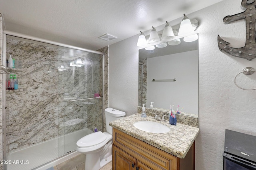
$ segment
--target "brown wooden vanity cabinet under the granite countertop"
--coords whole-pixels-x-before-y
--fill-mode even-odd
[[[181,159],[113,128],[113,170],[194,170],[194,143]]]

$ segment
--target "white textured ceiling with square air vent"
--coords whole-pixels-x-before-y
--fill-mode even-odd
[[[6,30],[97,50],[220,1],[0,0],[0,13]]]

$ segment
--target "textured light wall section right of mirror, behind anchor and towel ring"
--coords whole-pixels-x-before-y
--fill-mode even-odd
[[[196,169],[222,169],[225,129],[256,135],[255,92],[241,90],[233,80],[243,68],[256,69],[256,60],[248,61],[219,51],[218,34],[233,47],[243,47],[246,38],[245,21],[225,25],[225,16],[242,12],[241,0],[224,0],[216,5],[195,12],[200,27],[199,59],[199,125],[196,140]],[[255,50],[255,49],[253,49]],[[256,88],[256,75],[240,74],[241,86]]]

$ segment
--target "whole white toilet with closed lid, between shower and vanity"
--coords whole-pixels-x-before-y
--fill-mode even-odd
[[[124,116],[123,111],[105,109],[107,131],[91,133],[77,141],[76,150],[86,154],[84,170],[99,170],[112,161],[112,127],[109,123]]]

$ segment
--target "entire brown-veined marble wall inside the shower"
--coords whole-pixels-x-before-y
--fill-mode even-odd
[[[102,94],[102,64],[97,61],[102,55],[7,36],[6,57],[10,54],[22,61],[22,69],[10,70],[18,75],[21,91],[6,94],[8,152],[85,127],[102,129],[102,98],[68,101],[94,93],[90,64],[70,67],[78,57],[92,59],[93,87]]]

